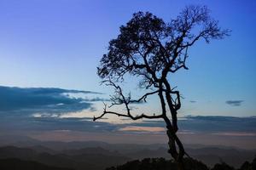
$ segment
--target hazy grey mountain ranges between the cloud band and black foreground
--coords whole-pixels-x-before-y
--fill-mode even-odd
[[[1,142],[0,140],[0,144]],[[142,160],[146,157],[171,158],[166,151],[166,144],[108,144],[102,141],[60,142],[24,138],[12,145],[29,149],[26,153],[26,160],[31,160],[29,156],[32,155],[32,160],[40,160],[40,162],[52,166],[58,166],[59,162],[64,160],[65,162],[61,164],[62,167],[69,167],[70,165],[71,167],[84,167],[85,164],[90,165],[90,161],[95,161],[97,165],[90,165],[90,167],[97,169],[104,167],[102,162],[105,161],[108,165],[118,165],[135,159]],[[244,161],[252,161],[256,155],[256,150],[242,150],[226,146],[185,144],[185,149],[189,156],[203,161],[209,167],[221,161],[227,162],[233,167],[240,167]],[[19,151],[14,152],[19,153]],[[22,155],[18,158],[22,158]],[[113,158],[113,160],[110,160],[110,158]],[[99,161],[101,159],[102,161]]]

